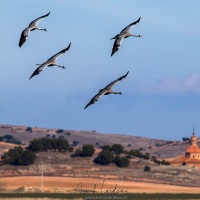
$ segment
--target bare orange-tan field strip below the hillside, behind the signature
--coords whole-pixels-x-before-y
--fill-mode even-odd
[[[8,177],[0,178],[6,190],[13,191],[20,187],[29,189],[41,189],[41,177]],[[82,184],[81,184],[82,183]],[[132,181],[103,180],[94,178],[64,178],[44,177],[43,191],[49,192],[73,192],[77,190],[94,190],[106,192],[120,190],[128,193],[199,193],[198,187],[183,187],[166,184],[141,183]]]

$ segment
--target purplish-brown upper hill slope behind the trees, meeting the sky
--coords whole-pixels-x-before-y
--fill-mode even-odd
[[[157,158],[173,158],[182,155],[188,143],[181,141],[169,141],[151,139],[138,136],[107,134],[93,131],[62,130],[38,127],[25,127],[0,124],[0,136],[11,135],[22,144],[28,145],[30,140],[40,137],[64,137],[72,146],[80,147],[83,144],[92,144],[96,148],[103,145],[121,144],[127,150],[140,149],[141,152],[149,152]],[[0,155],[6,148],[0,144]]]

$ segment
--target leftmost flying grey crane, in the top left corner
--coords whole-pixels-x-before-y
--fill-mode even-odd
[[[30,31],[34,31],[34,30],[43,30],[43,31],[46,31],[47,32],[47,29],[46,28],[39,28],[38,27],[38,22],[42,19],[44,19],[45,17],[49,16],[50,12],[46,15],[43,15],[35,20],[33,20],[27,28],[25,28],[22,33],[21,33],[21,37],[20,37],[20,40],[19,40],[19,47],[21,47],[25,42],[26,42],[26,39],[30,33]]]

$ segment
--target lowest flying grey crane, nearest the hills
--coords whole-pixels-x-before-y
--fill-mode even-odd
[[[115,92],[112,90],[112,87],[117,84],[118,82],[120,82],[121,80],[123,80],[124,78],[126,78],[126,76],[128,75],[129,71],[122,77],[118,78],[117,80],[111,82],[110,84],[108,84],[105,88],[99,90],[98,94],[96,94],[91,100],[90,102],[85,106],[84,109],[86,109],[88,106],[90,106],[91,104],[94,104],[96,101],[99,100],[100,97],[102,97],[103,95],[109,95],[109,94],[122,94],[121,92]]]

